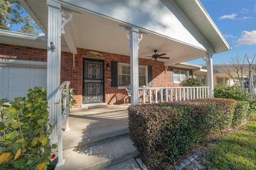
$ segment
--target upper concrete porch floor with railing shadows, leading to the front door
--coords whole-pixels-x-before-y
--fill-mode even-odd
[[[128,133],[128,107],[121,104],[97,109],[73,108],[69,115],[70,130],[62,132],[63,149]],[[62,128],[65,130],[66,121]]]

